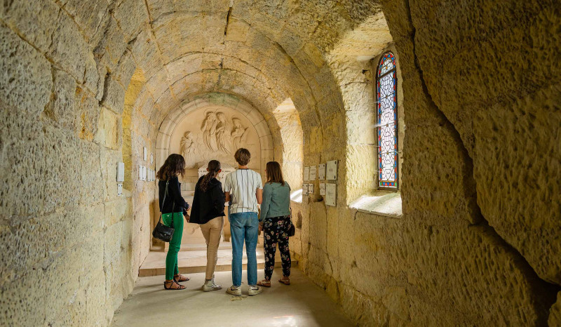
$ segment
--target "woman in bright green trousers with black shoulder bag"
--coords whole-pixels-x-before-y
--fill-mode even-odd
[[[180,251],[183,236],[183,216],[189,222],[187,209],[189,203],[181,196],[181,183],[179,175],[185,174],[185,159],[181,154],[170,154],[165,159],[163,166],[156,173],[158,178],[158,196],[162,221],[166,226],[173,226],[175,232],[170,241],[168,255],[165,257],[165,281],[163,288],[166,290],[183,290],[184,285],[179,282],[189,281],[189,278],[180,274],[177,266],[177,253]]]

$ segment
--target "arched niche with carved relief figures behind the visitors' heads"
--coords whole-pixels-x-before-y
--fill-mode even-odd
[[[211,93],[183,102],[163,119],[156,138],[156,167],[169,154],[184,154],[188,169],[182,191],[189,192],[194,190],[198,168],[209,160],[236,166],[238,147],[250,150],[248,166],[264,177],[266,162],[273,160],[273,137],[264,117],[234,95]]]

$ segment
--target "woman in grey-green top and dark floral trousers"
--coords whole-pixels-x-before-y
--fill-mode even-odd
[[[288,229],[290,229],[290,185],[283,178],[283,171],[276,161],[266,164],[267,181],[263,187],[263,202],[259,230],[264,231],[265,279],[257,285],[271,287],[271,276],[275,267],[275,251],[278,243],[280,259],[283,262],[283,277],[280,283],[290,285],[290,249]]]

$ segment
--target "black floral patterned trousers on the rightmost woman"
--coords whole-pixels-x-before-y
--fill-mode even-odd
[[[266,279],[270,280],[273,275],[277,243],[278,249],[280,250],[280,259],[283,261],[283,276],[290,276],[290,250],[288,249],[289,228],[290,215],[266,218],[263,223]]]

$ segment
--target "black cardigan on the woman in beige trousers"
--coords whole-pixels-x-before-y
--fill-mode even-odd
[[[195,196],[193,197],[193,208],[191,208],[191,223],[206,224],[213,218],[224,216],[224,203],[226,196],[222,191],[222,183],[216,178],[212,178],[208,183],[208,189],[203,192],[201,180],[198,179],[195,186]]]

